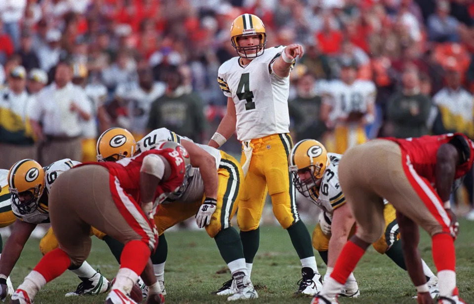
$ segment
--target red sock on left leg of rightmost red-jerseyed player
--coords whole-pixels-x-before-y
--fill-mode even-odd
[[[365,250],[354,242],[348,241],[337,258],[331,277],[338,283],[345,284],[351,272],[364,255]]]

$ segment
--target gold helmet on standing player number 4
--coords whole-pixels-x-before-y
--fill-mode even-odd
[[[258,45],[239,46],[237,38],[244,36],[260,36]],[[232,46],[237,51],[238,56],[243,58],[255,58],[263,54],[265,45],[267,44],[267,34],[265,34],[265,26],[259,17],[251,14],[243,14],[238,16],[231,26]]]

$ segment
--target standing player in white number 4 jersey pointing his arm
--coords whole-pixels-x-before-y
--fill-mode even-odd
[[[209,146],[219,148],[234,132],[242,142],[240,164],[245,174],[238,202],[237,223],[250,275],[260,242],[259,223],[267,191],[273,212],[288,231],[301,261],[303,278],[296,294],[314,295],[321,275],[311,247],[311,236],[295,204],[295,189],[288,173],[288,154],[293,145],[289,135],[289,74],[298,57],[299,44],[265,48],[267,34],[255,15],[238,16],[231,26],[231,43],[237,57],[224,62],[217,81],[227,97],[227,113]],[[226,294],[229,282],[217,291]]]

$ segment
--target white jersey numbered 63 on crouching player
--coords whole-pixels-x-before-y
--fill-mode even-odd
[[[312,199],[316,205],[325,212],[332,214],[333,210],[346,203],[344,193],[339,185],[339,175],[337,169],[342,155],[337,153],[327,153],[329,165],[324,170],[324,175],[319,186],[319,190],[310,190]]]

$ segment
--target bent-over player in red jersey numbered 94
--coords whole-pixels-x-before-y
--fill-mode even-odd
[[[80,265],[90,252],[91,226],[125,244],[105,303],[136,303],[130,292],[158,242],[153,221],[156,202],[182,185],[188,165],[189,154],[178,145],[117,162],[80,164],[60,175],[49,196],[51,225],[60,248],[41,259],[10,303],[31,304],[47,282],[71,265]],[[150,303],[163,301],[159,294],[159,299]]]

